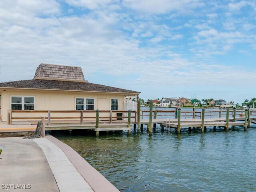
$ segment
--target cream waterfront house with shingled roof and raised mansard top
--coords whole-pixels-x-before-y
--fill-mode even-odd
[[[140,92],[89,83],[81,67],[40,64],[31,80],[0,83],[1,120],[8,110],[124,110]],[[64,115],[64,114],[63,114]]]

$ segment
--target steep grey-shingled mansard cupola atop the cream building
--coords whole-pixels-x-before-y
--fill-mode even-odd
[[[81,67],[44,63],[37,67],[34,79],[86,82]]]

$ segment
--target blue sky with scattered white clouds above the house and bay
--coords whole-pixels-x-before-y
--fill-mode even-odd
[[[143,99],[256,97],[255,0],[2,0],[0,82],[40,63]]]

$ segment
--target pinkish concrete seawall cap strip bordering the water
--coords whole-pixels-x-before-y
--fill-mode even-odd
[[[53,136],[45,136],[50,142],[58,146],[78,170],[81,176],[91,186],[95,192],[119,192],[100,172],[93,168],[84,158],[67,144],[64,144]]]

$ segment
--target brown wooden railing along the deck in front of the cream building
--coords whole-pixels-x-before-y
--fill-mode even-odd
[[[12,124],[12,120],[41,120],[42,116],[47,120],[47,124],[51,124],[51,120],[76,120],[80,119],[80,124],[85,120],[96,120],[97,110],[9,110],[8,123]],[[124,110],[99,110],[99,119],[112,122],[112,120],[124,120],[129,118],[129,111]],[[122,113],[122,116],[117,116]],[[127,113],[127,116],[124,114]],[[136,121],[136,111],[130,111],[132,114],[130,118]],[[26,114],[24,116],[14,116],[14,114]],[[28,114],[31,114],[30,116]],[[32,114],[38,114],[33,116]],[[54,114],[54,115],[53,115]],[[64,114],[68,114],[64,115]],[[74,115],[72,115],[74,114]],[[40,117],[39,117],[40,115]]]

